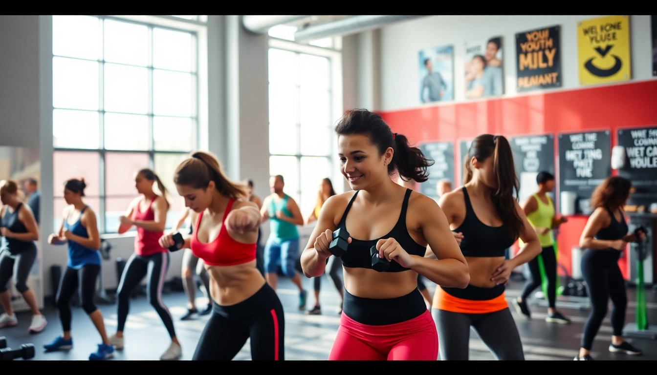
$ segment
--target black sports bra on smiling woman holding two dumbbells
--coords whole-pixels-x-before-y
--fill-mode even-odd
[[[344,267],[372,269],[370,248],[376,245],[378,240],[384,240],[391,237],[397,240],[399,245],[401,245],[401,247],[406,250],[408,254],[419,255],[422,257],[424,256],[424,253],[426,252],[426,246],[420,246],[417,244],[417,242],[413,240],[408,232],[408,229],[406,228],[406,211],[409,206],[409,197],[411,196],[412,191],[413,190],[411,189],[406,189],[406,195],[404,196],[403,204],[401,204],[401,213],[399,214],[399,219],[397,219],[397,223],[393,227],[392,231],[390,231],[385,236],[382,236],[381,238],[376,238],[376,240],[357,240],[351,237],[351,244],[347,246],[347,253],[342,255],[342,265],[344,265]],[[340,224],[338,224],[338,228],[345,229],[347,232],[349,232],[349,230],[345,227],[347,213],[349,213],[351,204],[353,204],[353,200],[355,200],[357,195],[358,190],[356,190],[355,194],[353,194],[351,197],[346,210],[344,210],[344,213],[342,214]],[[363,219],[371,220],[369,217]],[[390,261],[390,267],[388,267],[388,269],[384,272],[402,271],[409,271],[409,268],[401,267],[401,265],[399,265],[399,263],[396,261]]]

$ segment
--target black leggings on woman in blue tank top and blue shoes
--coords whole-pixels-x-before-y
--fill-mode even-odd
[[[78,292],[80,278],[78,273],[82,279],[82,309],[87,314],[97,310],[93,298],[96,295],[96,281],[101,273],[101,266],[89,264],[79,270],[66,267],[57,292],[57,309],[59,309],[59,319],[62,321],[64,332],[71,330],[71,297]]]

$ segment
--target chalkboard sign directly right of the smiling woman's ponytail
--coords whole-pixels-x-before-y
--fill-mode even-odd
[[[434,165],[428,168],[429,179],[420,184],[420,192],[438,200],[438,181],[448,179],[454,186],[454,143],[424,143],[420,144],[420,150],[424,156],[434,160]]]

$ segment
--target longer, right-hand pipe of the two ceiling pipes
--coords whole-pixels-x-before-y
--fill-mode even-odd
[[[303,30],[298,30],[294,33],[294,41],[307,42],[325,37],[336,37],[340,35],[351,35],[354,33],[365,32],[381,28],[395,22],[406,20],[413,20],[424,16],[353,16],[328,22],[326,24],[319,24],[317,26],[309,26]]]

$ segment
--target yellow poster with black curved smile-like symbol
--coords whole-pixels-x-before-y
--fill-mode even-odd
[[[578,23],[579,84],[630,79],[629,16],[606,16]]]

